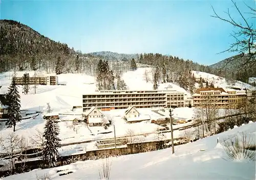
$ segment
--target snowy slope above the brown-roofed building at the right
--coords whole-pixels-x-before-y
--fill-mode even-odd
[[[192,74],[194,74],[196,79],[204,79],[205,81],[208,81],[208,83],[214,83],[215,87],[219,88],[240,88],[240,89],[250,89],[250,90],[256,90],[256,87],[253,87],[249,84],[243,83],[241,81],[230,81],[226,80],[223,77],[220,77],[218,75],[209,74],[206,72],[200,72],[200,71],[192,71]]]

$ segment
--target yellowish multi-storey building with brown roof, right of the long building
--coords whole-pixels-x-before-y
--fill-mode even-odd
[[[237,108],[247,99],[245,90],[224,88],[199,88],[193,94],[194,107]]]

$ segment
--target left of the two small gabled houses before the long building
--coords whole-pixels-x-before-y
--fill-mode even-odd
[[[89,126],[102,126],[110,124],[109,120],[106,119],[105,115],[100,112],[96,107],[92,107],[87,112],[82,114],[84,120]]]

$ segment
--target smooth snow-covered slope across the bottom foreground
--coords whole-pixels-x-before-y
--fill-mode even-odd
[[[139,153],[135,155],[111,158],[111,180],[130,179],[232,179],[249,180],[255,178],[255,162],[227,160],[227,155],[220,142],[223,138],[236,136],[238,132],[253,134],[255,122],[233,128],[230,131],[210,136],[193,143],[175,146],[172,149]],[[57,179],[98,179],[99,170],[105,160],[81,161],[70,165],[35,169],[33,171],[4,177],[4,180],[34,180],[36,176],[49,174],[52,180]],[[63,170],[61,172],[57,172]],[[59,176],[60,173],[73,173]]]

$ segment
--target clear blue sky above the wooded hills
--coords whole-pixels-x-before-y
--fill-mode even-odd
[[[0,0],[1,2],[1,0]],[[242,12],[253,0],[236,1]],[[231,1],[10,1],[1,19],[20,21],[40,34],[83,53],[161,53],[210,65],[234,54],[217,55],[234,39],[233,26],[210,17],[224,15]],[[248,14],[246,14],[248,16]]]

